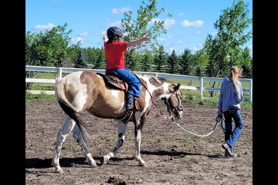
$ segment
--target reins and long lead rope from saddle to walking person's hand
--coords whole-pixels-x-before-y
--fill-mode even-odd
[[[133,73],[133,71],[131,71],[131,70],[128,69],[127,67],[125,67],[125,69],[129,70],[133,75],[135,75],[135,76],[138,78],[138,80],[140,81],[140,83],[141,83],[141,84],[146,88],[146,90],[149,92],[149,90],[148,90],[147,86],[144,84],[144,82],[142,82],[142,80],[141,80],[135,73]],[[172,93],[172,95],[173,95],[175,92],[176,92],[176,90]],[[152,97],[152,95],[151,95],[151,92],[149,92],[149,94],[150,94],[151,99],[153,100],[154,104],[155,104],[156,107],[158,108],[158,105],[156,104],[156,101],[154,101],[154,99],[153,99],[153,97]],[[172,95],[171,95],[171,96],[172,96]],[[176,95],[177,95],[177,94],[176,94]],[[171,97],[171,96],[170,96],[170,97]],[[173,111],[173,114],[171,115],[170,110],[169,110],[168,103],[169,103],[169,99],[168,99],[168,102],[167,102],[167,110],[168,110],[168,112],[169,112],[169,114],[170,114],[170,117],[164,115],[164,114],[161,112],[161,110],[160,110],[159,108],[158,108],[158,110],[159,110],[160,113],[163,115],[163,117],[160,116],[160,115],[158,115],[158,114],[156,114],[156,113],[153,112],[152,110],[151,110],[151,112],[152,112],[154,115],[158,116],[158,117],[162,117],[162,118],[164,118],[164,119],[171,119],[180,129],[182,129],[182,130],[184,130],[185,132],[188,132],[189,134],[192,134],[192,135],[194,135],[194,136],[206,137],[206,136],[211,135],[211,134],[214,132],[214,129],[215,129],[217,123],[219,123],[219,122],[221,122],[221,128],[223,129],[223,132],[224,132],[224,134],[225,134],[225,127],[224,127],[224,121],[223,121],[223,120],[225,120],[225,119],[224,119],[224,117],[223,117],[222,115],[219,115],[219,116],[217,116],[217,117],[215,118],[216,123],[215,123],[215,125],[214,125],[212,131],[211,131],[209,134],[206,134],[206,135],[194,134],[194,133],[192,133],[192,132],[190,132],[190,131],[188,131],[188,130],[182,128],[182,127],[181,127],[178,123],[176,123],[176,122],[174,121],[174,119],[173,119],[173,115],[175,114],[175,112],[176,112],[179,108],[177,108],[175,111]],[[165,103],[165,104],[166,104],[166,103]],[[179,105],[180,105],[180,101],[179,101]]]

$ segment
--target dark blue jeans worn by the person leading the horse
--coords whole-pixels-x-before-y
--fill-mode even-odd
[[[233,146],[239,133],[242,131],[243,124],[239,110],[234,107],[229,108],[223,112],[225,118],[225,142],[230,146],[230,150],[233,153]],[[235,129],[232,132],[232,118],[235,121]]]

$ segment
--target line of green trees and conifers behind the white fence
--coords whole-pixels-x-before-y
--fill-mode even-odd
[[[234,1],[230,8],[222,10],[219,19],[214,23],[217,34],[208,34],[204,47],[194,54],[185,48],[181,54],[175,49],[167,53],[166,46],[158,44],[157,38],[166,34],[164,21],[155,21],[150,27],[148,23],[153,18],[159,18],[165,8],[157,10],[158,1],[142,1],[137,10],[136,20],[132,19],[132,11],[126,11],[121,20],[121,29],[125,33],[123,41],[140,38],[145,34],[151,37],[150,42],[142,42],[128,48],[125,52],[125,65],[132,71],[160,72],[200,77],[227,76],[231,66],[237,65],[243,69],[244,78],[253,78],[253,58],[250,50],[244,44],[252,38],[253,32],[244,33],[253,18],[249,18],[249,4],[243,0]],[[166,18],[171,17],[171,13]],[[81,46],[81,43],[69,45],[72,29],[67,31],[67,23],[58,25],[45,32],[25,31],[25,65],[55,66],[105,69],[106,57],[103,47]],[[31,78],[36,72],[25,71],[25,77]],[[25,89],[30,84],[25,83]],[[190,84],[189,84],[190,85]],[[215,84],[210,84],[215,87]]]

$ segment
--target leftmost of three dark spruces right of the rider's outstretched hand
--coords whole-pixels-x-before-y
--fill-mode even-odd
[[[154,64],[155,72],[159,73],[166,73],[167,71],[167,60],[166,60],[166,54],[164,51],[164,47],[162,45],[159,46],[158,53],[156,54],[154,58]]]

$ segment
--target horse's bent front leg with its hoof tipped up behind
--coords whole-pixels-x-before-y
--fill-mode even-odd
[[[118,141],[117,145],[109,152],[106,154],[106,156],[103,156],[100,158],[100,164],[106,164],[106,162],[114,156],[114,154],[120,149],[120,147],[124,144],[125,142],[125,130],[127,128],[127,124],[123,123],[122,121],[118,121]]]

